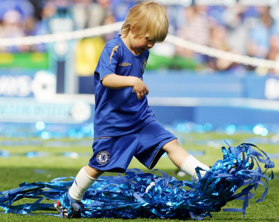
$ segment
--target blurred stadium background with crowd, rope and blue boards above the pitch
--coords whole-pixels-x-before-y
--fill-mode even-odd
[[[0,136],[92,137],[94,69],[138,2],[0,0]],[[160,2],[169,36],[144,73],[158,120],[186,133],[279,134],[278,1]]]

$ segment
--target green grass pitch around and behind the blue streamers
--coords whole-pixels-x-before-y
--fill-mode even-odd
[[[275,178],[269,180],[269,191],[264,202],[255,203],[256,199],[261,197],[263,192],[262,187],[258,187],[255,195],[255,199],[249,201],[249,206],[246,210],[246,216],[243,218],[242,213],[234,212],[213,212],[212,218],[205,218],[204,221],[279,221],[278,213],[278,199],[279,199],[279,160],[278,153],[279,147],[276,143],[272,143],[274,138],[278,135],[268,135],[262,137],[260,135],[248,134],[248,133],[235,133],[233,135],[227,135],[224,133],[208,132],[208,133],[175,133],[180,140],[180,144],[190,153],[196,156],[205,164],[212,165],[216,160],[222,159],[221,147],[228,147],[223,140],[226,140],[231,146],[238,146],[241,143],[252,143],[267,152],[271,156],[271,160],[275,163],[273,169]],[[182,138],[182,139],[181,139]],[[52,139],[43,140],[38,138],[28,139],[28,143],[24,139],[11,139],[0,138],[1,144],[9,140],[10,145],[0,145],[0,151],[6,150],[10,154],[10,157],[0,157],[0,191],[10,190],[17,188],[20,183],[23,182],[49,182],[57,177],[76,176],[81,167],[88,163],[92,154],[91,143],[92,139],[83,139],[82,141],[75,139]],[[26,139],[25,139],[26,140]],[[277,141],[278,144],[278,141]],[[41,152],[42,157],[28,158],[26,153],[37,151]],[[66,152],[75,152],[78,154],[77,158],[65,157],[62,154]],[[199,156],[198,154],[204,153]],[[275,159],[273,159],[274,157]],[[149,170],[145,169],[137,160],[133,159],[129,168],[139,168],[145,172]],[[156,169],[160,169],[168,175],[175,176],[180,180],[189,180],[188,176],[183,178],[176,175],[176,167],[167,157],[162,157]],[[271,171],[270,171],[271,172]],[[105,173],[103,176],[115,175],[112,173]],[[267,175],[268,177],[268,175]],[[28,200],[21,200],[21,203],[28,202]],[[33,200],[31,200],[33,201]],[[18,203],[17,203],[18,204]],[[225,208],[242,207],[242,201],[235,200],[228,202]],[[0,209],[0,212],[3,212]],[[53,212],[33,212],[36,213],[55,213]],[[60,217],[48,216],[48,215],[18,215],[18,214],[3,214],[0,213],[0,221],[63,221],[65,219]],[[194,221],[192,219],[187,219]],[[105,222],[120,222],[126,221],[124,219],[71,219],[71,221],[105,221]],[[135,222],[146,221],[162,221],[160,219],[132,219]],[[168,219],[168,221],[178,222],[180,220]]]

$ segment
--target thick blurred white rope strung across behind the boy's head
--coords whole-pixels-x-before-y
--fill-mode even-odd
[[[98,35],[104,35],[119,31],[123,22],[116,22],[114,24],[107,24],[104,26],[97,26],[94,28],[87,28],[83,30],[54,33],[47,35],[36,35],[26,37],[10,37],[0,38],[1,46],[20,46],[20,45],[35,45],[41,43],[60,42],[74,39],[82,39],[85,37],[92,37]],[[237,62],[239,64],[251,65],[255,67],[264,67],[268,69],[279,69],[279,62],[273,60],[260,59],[255,57],[249,57],[247,55],[240,55],[232,52],[226,52],[219,49],[210,48],[205,45],[190,42],[174,35],[168,35],[166,42],[174,44],[176,46],[183,47],[188,50],[192,50],[197,53],[208,55],[215,58],[222,58],[225,60]]]

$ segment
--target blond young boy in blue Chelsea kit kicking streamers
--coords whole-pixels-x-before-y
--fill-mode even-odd
[[[196,179],[197,166],[209,169],[178,144],[147,104],[149,90],[142,75],[149,49],[165,40],[168,28],[165,8],[145,1],[130,9],[121,28],[122,35],[103,49],[94,73],[93,156],[64,197],[71,200],[73,210],[62,209],[63,198],[54,203],[64,217],[80,217],[78,205],[85,191],[105,171],[124,173],[133,156],[152,169],[166,152],[181,171]],[[205,171],[200,173],[204,176]]]

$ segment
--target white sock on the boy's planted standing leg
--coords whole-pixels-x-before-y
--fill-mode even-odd
[[[88,176],[84,170],[84,167],[81,168],[81,170],[78,172],[78,175],[76,175],[73,185],[69,189],[69,195],[77,202],[80,202],[85,192],[96,180],[97,179]]]

